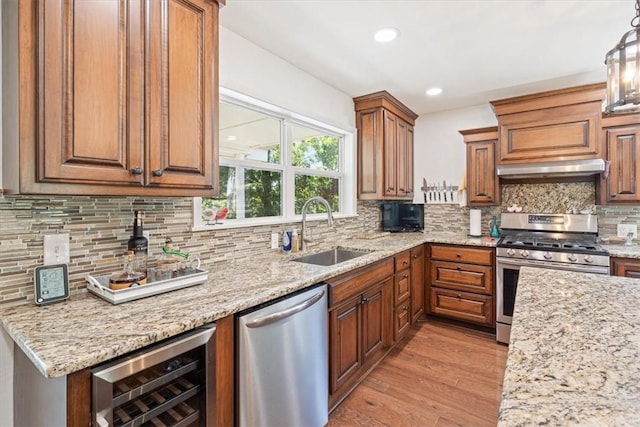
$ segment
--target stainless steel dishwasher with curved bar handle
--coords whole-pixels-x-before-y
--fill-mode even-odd
[[[327,424],[327,324],[325,283],[237,315],[240,426]]]

